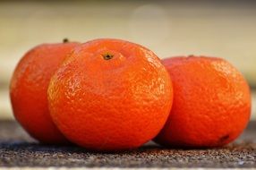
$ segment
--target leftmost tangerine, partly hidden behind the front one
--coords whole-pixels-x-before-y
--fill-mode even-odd
[[[66,143],[53,123],[47,106],[52,74],[78,43],[43,44],[21,58],[13,72],[10,97],[13,114],[32,137],[43,143]]]

